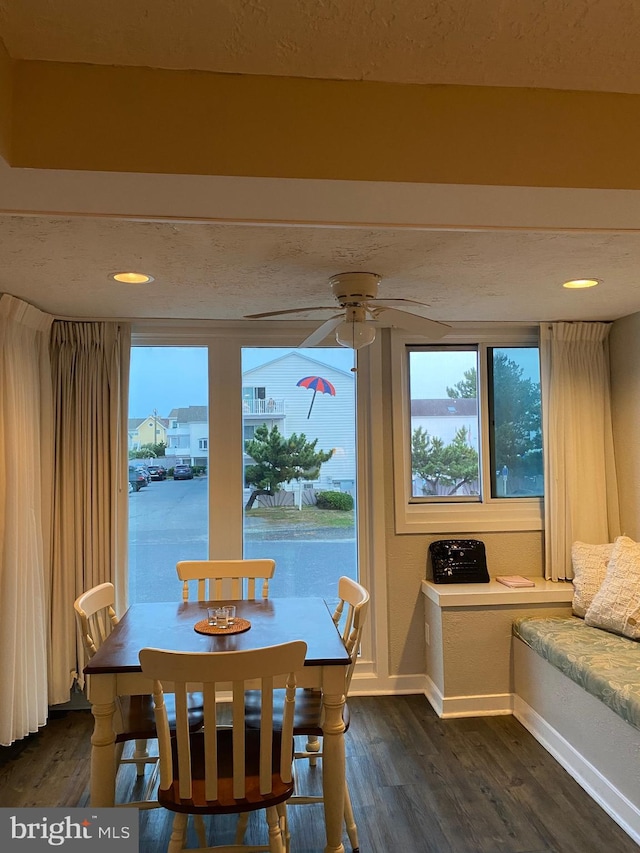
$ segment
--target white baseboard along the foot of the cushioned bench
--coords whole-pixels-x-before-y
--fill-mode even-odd
[[[514,697],[513,713],[525,729],[553,755],[627,835],[633,838],[636,844],[640,844],[640,809],[518,696]]]

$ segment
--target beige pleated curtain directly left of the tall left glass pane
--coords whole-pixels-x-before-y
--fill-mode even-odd
[[[51,332],[55,456],[49,703],[83,683],[73,602],[126,576],[127,406],[131,332],[55,322]],[[124,521],[123,521],[124,519]]]

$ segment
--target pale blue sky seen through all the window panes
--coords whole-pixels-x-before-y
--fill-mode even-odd
[[[350,370],[353,350],[344,347],[250,347],[243,349],[243,369],[250,370],[289,352],[300,352],[332,367]],[[509,348],[512,358],[523,368],[523,376],[539,381],[538,350]],[[475,352],[449,352],[437,368],[413,372],[411,397],[437,399],[447,396],[447,386],[459,382],[464,371],[475,364]],[[240,393],[240,389],[238,389]],[[207,405],[207,350],[205,347],[133,347],[129,415],[146,418],[157,409],[167,417],[171,409]]]

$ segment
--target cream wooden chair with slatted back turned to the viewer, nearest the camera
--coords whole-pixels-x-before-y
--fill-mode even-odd
[[[189,815],[196,816],[201,853],[238,850],[233,845],[206,845],[204,815],[248,814],[266,810],[267,845],[242,845],[251,850],[285,853],[286,801],[293,793],[293,712],[295,672],[304,665],[306,643],[232,652],[172,652],[142,649],[140,665],[154,680],[156,726],[160,749],[158,802],[176,813],[168,853],[184,850]],[[244,724],[247,682],[259,682],[261,719],[258,727]],[[273,725],[274,685],[285,683],[280,725]],[[175,691],[177,726],[172,736],[163,684]],[[233,692],[231,724],[219,725],[220,692]],[[193,734],[187,725],[189,691],[202,687],[204,727]],[[244,826],[243,826],[244,829]]]

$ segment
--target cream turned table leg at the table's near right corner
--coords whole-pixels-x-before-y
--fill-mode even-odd
[[[344,853],[342,821],[344,816],[344,722],[343,694],[323,694],[322,792],[327,833],[325,853]]]

